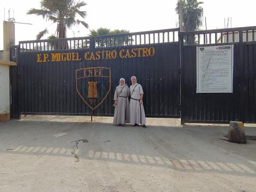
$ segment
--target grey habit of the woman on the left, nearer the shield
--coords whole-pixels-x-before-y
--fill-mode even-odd
[[[130,90],[127,85],[124,85],[124,87],[121,87],[118,85],[116,87],[114,100],[117,100],[117,106],[115,107],[115,113],[114,113],[114,119],[113,119],[113,123],[115,125],[130,123],[130,105],[129,105],[129,98],[128,98],[129,95],[130,95]],[[126,105],[125,105],[125,101],[126,101]],[[126,113],[125,113],[125,108],[126,108]],[[125,119],[125,115],[126,115],[126,119]]]

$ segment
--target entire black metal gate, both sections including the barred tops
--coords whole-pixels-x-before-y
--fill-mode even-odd
[[[18,62],[18,69],[11,70],[12,117],[90,115],[92,109],[95,116],[111,116],[119,78],[131,85],[135,75],[145,92],[148,117],[181,117],[182,124],[255,123],[256,27],[178,30],[20,42],[11,49],[11,59]],[[196,93],[196,47],[230,44],[233,93]],[[106,78],[97,80],[102,102],[90,107],[88,82],[81,79],[93,73]]]

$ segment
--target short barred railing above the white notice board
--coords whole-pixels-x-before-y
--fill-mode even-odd
[[[184,45],[254,42],[256,26],[181,32]]]

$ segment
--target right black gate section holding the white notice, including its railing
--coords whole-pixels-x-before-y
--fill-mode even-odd
[[[256,122],[255,30],[246,27],[180,33],[182,123]],[[196,41],[187,43],[189,38]],[[196,47],[230,44],[234,44],[233,93],[196,93]]]

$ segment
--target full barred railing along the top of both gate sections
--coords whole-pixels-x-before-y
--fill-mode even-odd
[[[221,43],[255,42],[256,26],[181,32],[184,45],[214,45]],[[74,37],[21,41],[21,52],[93,49],[129,45],[147,45],[179,42],[179,28],[113,34],[92,37]]]

